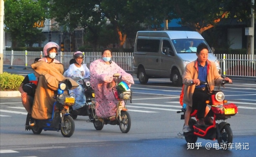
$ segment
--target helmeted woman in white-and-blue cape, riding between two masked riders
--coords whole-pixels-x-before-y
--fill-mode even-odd
[[[72,63],[69,68],[64,72],[65,77],[70,78],[89,78],[90,77],[90,71],[87,68],[85,64],[83,64],[84,61],[84,54],[81,51],[76,51],[74,54],[74,63]],[[84,94],[84,88],[82,85],[79,84],[79,87],[70,90],[70,92],[74,92],[76,94],[76,102],[75,105],[72,106],[73,110],[76,110],[78,108],[81,108],[86,105],[86,97]]]

